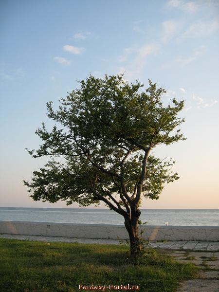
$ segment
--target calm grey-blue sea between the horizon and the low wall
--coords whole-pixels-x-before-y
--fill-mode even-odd
[[[141,220],[148,225],[219,226],[219,209],[142,209]],[[5,208],[0,220],[59,223],[123,224],[124,219],[109,209]]]

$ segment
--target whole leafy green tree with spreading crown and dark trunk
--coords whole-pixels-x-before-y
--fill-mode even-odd
[[[51,131],[45,124],[36,134],[43,144],[29,153],[52,158],[44,168],[24,181],[35,201],[78,202],[82,206],[103,201],[122,215],[130,238],[130,252],[141,250],[138,235],[139,207],[143,198],[157,200],[164,183],[177,180],[170,171],[174,162],[150,155],[159,145],[184,140],[178,126],[183,101],[163,105],[163,88],[149,80],[141,90],[123,75],[82,80],[80,89],[61,99],[54,110],[47,103],[48,117],[58,123]],[[60,159],[63,157],[63,159]]]

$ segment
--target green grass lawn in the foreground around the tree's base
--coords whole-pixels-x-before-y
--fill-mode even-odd
[[[152,249],[133,265],[126,245],[0,239],[1,292],[76,292],[82,291],[79,284],[130,284],[142,292],[173,292],[195,272],[194,265]]]

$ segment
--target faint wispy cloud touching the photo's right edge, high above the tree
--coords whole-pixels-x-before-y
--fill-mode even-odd
[[[198,21],[189,26],[182,37],[203,37],[215,33],[219,29],[219,21]]]

